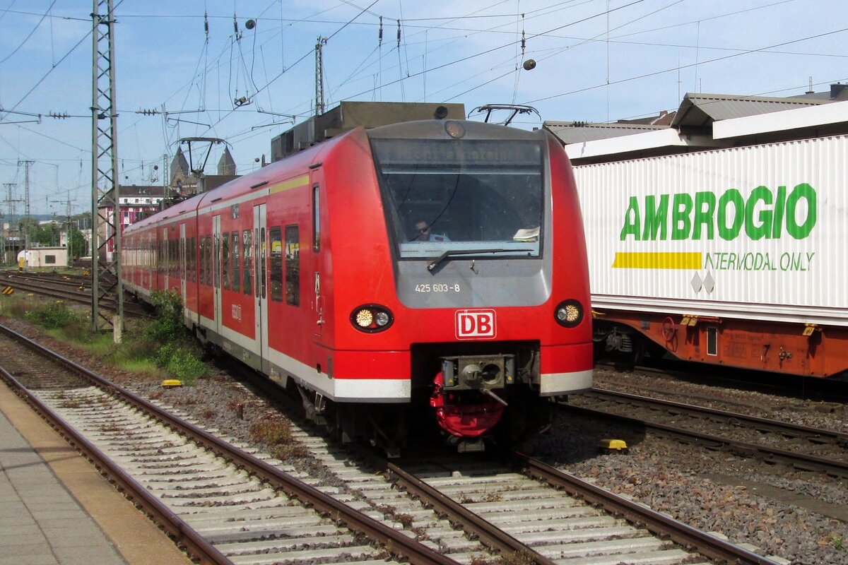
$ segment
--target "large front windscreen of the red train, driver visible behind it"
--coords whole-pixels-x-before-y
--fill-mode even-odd
[[[400,258],[539,256],[539,141],[372,139],[371,148]]]

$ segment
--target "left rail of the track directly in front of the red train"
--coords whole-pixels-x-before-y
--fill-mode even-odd
[[[386,462],[385,466],[388,469],[388,474],[395,479],[396,484],[418,496],[421,501],[432,506],[436,512],[446,515],[451,523],[459,523],[466,533],[476,535],[484,545],[501,552],[516,552],[522,558],[529,557],[538,565],[555,565],[555,561],[549,557],[544,557],[532,547],[516,540],[504,530],[471,512],[449,496],[445,496],[438,489],[427,485],[415,475],[407,473],[394,463]],[[526,560],[522,559],[522,562],[526,562]]]

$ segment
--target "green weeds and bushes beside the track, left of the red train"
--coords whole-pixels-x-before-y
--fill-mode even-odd
[[[3,302],[2,313],[40,325],[55,339],[121,370],[194,385],[207,374],[207,368],[200,361],[201,347],[182,325],[180,296],[172,291],[157,291],[151,302],[156,307],[156,318],[128,321],[120,344],[114,343],[111,334],[92,332],[90,314],[73,310],[61,301],[13,299]]]

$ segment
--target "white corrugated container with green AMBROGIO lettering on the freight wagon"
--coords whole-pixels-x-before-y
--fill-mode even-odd
[[[593,307],[848,325],[848,137],[574,174]]]

